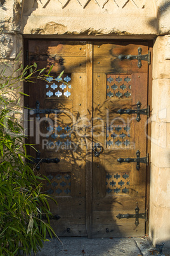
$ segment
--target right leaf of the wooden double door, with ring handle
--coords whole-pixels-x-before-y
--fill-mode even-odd
[[[136,158],[137,150],[141,152],[140,157],[147,153],[147,117],[141,115],[140,122],[137,122],[135,113],[117,113],[120,108],[137,110],[138,101],[141,108],[147,108],[147,62],[143,61],[139,69],[138,60],[121,61],[117,58],[120,54],[138,55],[138,47],[142,48],[142,54],[147,54],[146,45],[94,45],[93,142],[100,143],[102,151],[99,157],[93,156],[93,206],[96,201],[98,204],[102,201],[104,205],[99,211],[93,211],[93,237],[145,234],[145,220],[140,220],[136,227],[133,218],[130,221],[116,218],[118,213],[134,214],[136,206],[140,213],[145,213],[145,164],[140,164],[137,171],[135,162],[117,162],[119,157]],[[129,208],[122,208],[122,198]]]

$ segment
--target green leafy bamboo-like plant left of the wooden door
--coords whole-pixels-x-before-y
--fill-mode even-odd
[[[16,59],[16,64],[18,64]],[[52,67],[51,67],[52,68]],[[0,255],[18,255],[18,250],[28,255],[43,246],[46,233],[56,236],[50,226],[51,212],[48,200],[41,192],[44,178],[34,173],[25,161],[29,159],[24,143],[24,132],[18,120],[22,117],[18,92],[20,82],[45,79],[44,69],[36,63],[13,71],[0,73]],[[30,145],[32,146],[32,145]],[[45,215],[46,220],[42,218]]]

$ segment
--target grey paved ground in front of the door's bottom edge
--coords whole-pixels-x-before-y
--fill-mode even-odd
[[[159,254],[148,238],[60,238],[44,243],[36,256],[148,256],[170,255],[164,250]],[[33,256],[34,254],[32,254]]]

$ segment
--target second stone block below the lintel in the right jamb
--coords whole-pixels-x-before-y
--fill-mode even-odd
[[[170,79],[153,81],[151,119],[155,122],[170,122]]]

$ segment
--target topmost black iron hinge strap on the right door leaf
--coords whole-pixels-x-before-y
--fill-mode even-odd
[[[148,51],[148,54],[141,55],[141,47],[138,48],[138,55],[123,55],[120,54],[118,56],[118,59],[120,60],[138,60],[138,68],[141,68],[141,60],[145,60],[150,65],[150,51]]]

